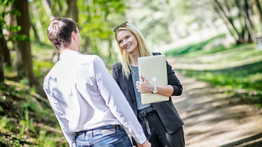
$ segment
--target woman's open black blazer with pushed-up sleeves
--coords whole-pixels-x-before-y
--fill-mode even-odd
[[[159,52],[156,52],[153,53],[153,55],[161,54]],[[167,62],[166,66],[168,85],[171,85],[174,89],[172,96],[179,96],[182,94],[182,85],[180,84],[180,81],[177,79],[175,72],[172,70],[172,67]],[[137,102],[135,99],[135,91],[131,74],[129,76],[129,79],[125,77],[123,78],[122,65],[120,62],[117,62],[114,63],[112,66],[112,76],[123,91],[125,97],[127,98],[127,101],[129,102],[131,108],[137,116]],[[151,103],[151,105],[156,109],[168,133],[172,134],[179,127],[184,125],[182,119],[177,113],[176,108],[173,105],[171,97],[169,97],[168,101]]]

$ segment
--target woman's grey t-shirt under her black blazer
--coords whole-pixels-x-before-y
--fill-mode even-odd
[[[131,66],[132,69],[134,70],[135,73],[131,72],[132,75],[132,80],[133,80],[133,85],[134,85],[134,90],[135,90],[135,99],[137,101],[137,110],[146,108],[150,106],[150,104],[142,104],[141,103],[141,93],[137,91],[137,86],[135,85],[136,81],[139,81],[139,73],[138,73],[138,67]]]

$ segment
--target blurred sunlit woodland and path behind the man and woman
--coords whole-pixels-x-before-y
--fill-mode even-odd
[[[108,70],[113,29],[128,21],[167,56],[183,94],[172,97],[186,146],[262,146],[262,1],[1,0],[0,147],[68,146],[42,89],[59,53],[51,20],[78,23],[83,54]]]

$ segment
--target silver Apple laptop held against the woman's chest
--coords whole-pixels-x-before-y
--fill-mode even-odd
[[[142,74],[152,85],[166,86],[167,83],[167,69],[166,69],[166,55],[156,55],[149,57],[138,58],[139,75]],[[140,82],[143,79],[139,76]],[[155,102],[168,101],[169,97],[149,93],[141,93],[142,104],[149,104]]]

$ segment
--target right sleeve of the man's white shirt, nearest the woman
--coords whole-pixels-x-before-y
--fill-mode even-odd
[[[104,62],[98,56],[94,61],[94,72],[100,94],[113,115],[127,128],[137,143],[145,143],[146,137],[137,117],[118,84],[106,69]]]

